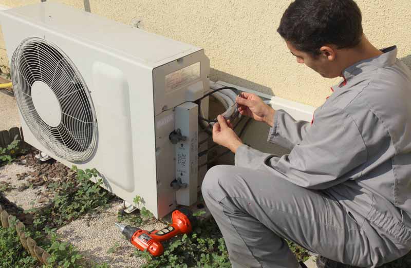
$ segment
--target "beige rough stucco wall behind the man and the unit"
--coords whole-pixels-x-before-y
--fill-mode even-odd
[[[48,0],[83,9],[83,0]],[[206,50],[211,79],[223,80],[312,106],[321,105],[330,85],[297,64],[276,33],[290,0],[86,0],[91,12]],[[7,6],[40,0],[0,0]],[[411,66],[410,0],[358,0],[364,32],[377,47],[398,45]],[[86,26],[85,26],[86,27]],[[3,48],[3,49],[1,49]],[[0,58],[4,58],[0,42]]]

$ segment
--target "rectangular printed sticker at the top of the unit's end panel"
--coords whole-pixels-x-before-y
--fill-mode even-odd
[[[200,62],[165,75],[165,93],[170,93],[200,78]]]

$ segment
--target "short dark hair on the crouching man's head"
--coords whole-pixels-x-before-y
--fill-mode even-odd
[[[296,0],[281,18],[277,32],[297,50],[319,55],[332,44],[352,48],[361,41],[361,11],[353,0]]]

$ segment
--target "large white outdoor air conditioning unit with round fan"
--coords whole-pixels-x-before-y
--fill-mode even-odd
[[[57,3],[0,17],[27,143],[156,217],[197,201],[202,49]]]

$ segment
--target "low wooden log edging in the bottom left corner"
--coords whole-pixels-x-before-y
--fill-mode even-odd
[[[43,264],[48,264],[47,260],[51,257],[51,255],[42,247],[38,246],[31,237],[26,237],[24,223],[19,220],[13,221],[13,216],[9,215],[7,211],[3,209],[2,205],[0,205],[0,218],[3,228],[15,228],[23,247],[34,259],[37,259]]]

